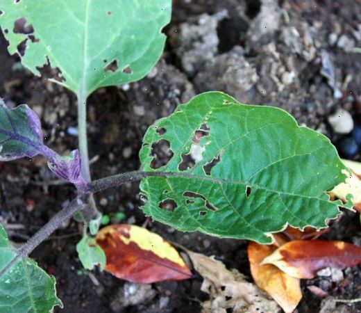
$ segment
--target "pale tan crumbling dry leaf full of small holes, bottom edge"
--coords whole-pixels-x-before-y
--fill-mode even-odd
[[[247,282],[237,270],[228,271],[226,266],[212,257],[187,251],[194,268],[203,277],[201,290],[210,295],[203,303],[203,313],[280,311],[277,303],[255,284]]]

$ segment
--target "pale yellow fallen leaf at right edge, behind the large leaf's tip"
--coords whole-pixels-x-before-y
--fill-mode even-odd
[[[347,195],[353,195],[353,209],[361,212],[361,163],[349,160],[342,162],[352,171],[351,176],[346,178],[346,182],[335,186],[331,194],[344,202]]]

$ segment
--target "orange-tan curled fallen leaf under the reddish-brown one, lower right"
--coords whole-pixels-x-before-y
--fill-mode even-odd
[[[260,265],[262,259],[276,250],[276,246],[260,245],[251,241],[248,246],[248,257],[255,284],[274,298],[286,313],[294,311],[299,304],[302,293],[300,280],[287,275],[277,266]]]

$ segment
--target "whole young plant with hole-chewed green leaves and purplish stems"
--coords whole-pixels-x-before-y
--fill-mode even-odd
[[[61,304],[55,280],[27,255],[76,212],[90,232],[85,227],[77,246],[83,265],[105,266],[104,252],[92,237],[101,220],[93,194],[126,182],[141,180],[147,216],[183,232],[271,243],[270,234],[287,225],[319,229],[339,214],[342,203],[330,201],[327,191],[344,182],[347,170],[330,141],[299,127],[285,111],[240,104],[219,92],[194,97],[149,127],[140,151],[142,171],[91,180],[87,97],[96,88],[136,81],[151,70],[162,53],[161,29],[170,13],[171,0],[0,0],[10,54],[19,54],[36,75],[47,64],[60,71],[61,79],[51,81],[78,97],[79,130],[79,149],[61,157],[44,145],[40,120],[28,106],[10,110],[1,102],[1,161],[42,154],[78,195],[19,249],[10,246],[0,226],[0,312],[14,307],[48,312]],[[31,33],[17,31],[20,19]],[[153,149],[160,143],[169,143],[173,156],[157,168]],[[187,168],[190,156],[194,163]]]

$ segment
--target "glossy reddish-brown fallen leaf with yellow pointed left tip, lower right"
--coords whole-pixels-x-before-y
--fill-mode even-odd
[[[314,278],[327,266],[346,268],[361,262],[361,248],[344,241],[295,240],[285,243],[261,264],[274,264],[295,278]]]

